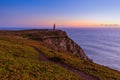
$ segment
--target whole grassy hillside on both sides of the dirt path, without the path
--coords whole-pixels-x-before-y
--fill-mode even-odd
[[[0,37],[0,65],[2,65],[0,66],[0,78],[18,78],[20,80],[28,78],[41,80],[45,78],[51,80],[80,79],[60,66],[41,61],[34,48],[40,50],[50,60],[59,60],[59,62],[68,64],[100,80],[120,80],[120,72],[116,70],[78,59],[66,52],[57,52],[45,47],[40,41],[5,36]]]

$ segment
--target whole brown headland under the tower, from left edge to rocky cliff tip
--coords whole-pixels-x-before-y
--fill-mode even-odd
[[[49,30],[49,29],[34,29],[34,30],[20,30],[20,31],[1,31],[0,35],[21,36],[28,39],[41,41],[47,47],[60,52],[68,52],[78,56],[81,59],[91,61],[85,54],[84,50],[70,39],[65,31]]]

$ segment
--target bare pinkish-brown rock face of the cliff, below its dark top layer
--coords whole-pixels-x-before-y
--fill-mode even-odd
[[[48,38],[43,41],[45,44],[51,45],[57,51],[66,51],[70,54],[75,54],[79,56],[81,59],[90,60],[84,50],[76,44],[72,39],[69,37],[62,37],[62,38]]]

